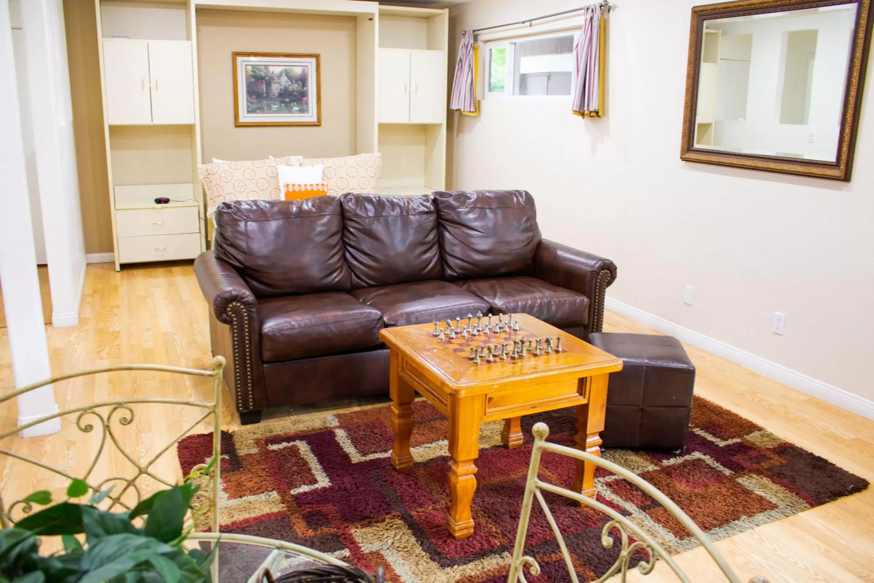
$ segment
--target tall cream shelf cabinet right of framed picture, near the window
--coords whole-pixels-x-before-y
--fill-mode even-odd
[[[382,194],[446,188],[447,9],[379,6]]]

